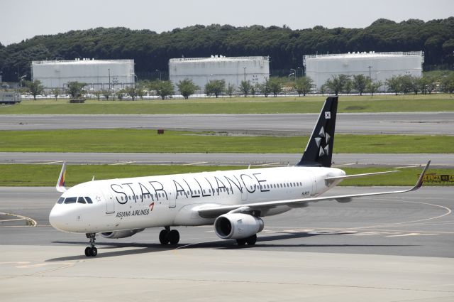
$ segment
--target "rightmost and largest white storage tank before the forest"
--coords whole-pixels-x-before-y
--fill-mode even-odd
[[[391,78],[393,75],[421,77],[423,51],[394,53],[343,53],[339,55],[304,55],[306,75],[314,80],[319,90],[326,80],[336,75],[365,75],[372,81]]]

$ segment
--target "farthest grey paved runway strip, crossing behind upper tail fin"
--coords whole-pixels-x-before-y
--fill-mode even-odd
[[[7,114],[2,130],[167,129],[310,134],[319,114]],[[336,133],[454,135],[454,112],[339,113]]]

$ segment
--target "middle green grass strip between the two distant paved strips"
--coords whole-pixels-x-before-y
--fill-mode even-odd
[[[144,129],[0,131],[1,152],[302,153],[307,136]],[[454,136],[336,134],[335,153],[454,153]]]

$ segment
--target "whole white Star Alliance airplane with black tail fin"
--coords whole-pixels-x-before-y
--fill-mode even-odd
[[[338,97],[328,97],[301,159],[295,166],[94,180],[65,188],[66,163],[56,189],[63,194],[52,207],[50,225],[63,232],[84,233],[87,257],[95,257],[96,234],[118,239],[148,227],[164,227],[161,244],[178,244],[170,227],[214,225],[221,239],[253,245],[265,226],[262,217],[309,203],[406,193],[423,183],[430,161],[414,187],[407,190],[320,196],[341,180],[399,171],[346,175],[331,168]]]

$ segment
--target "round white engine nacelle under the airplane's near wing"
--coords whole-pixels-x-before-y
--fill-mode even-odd
[[[214,231],[222,239],[242,239],[262,232],[263,220],[248,214],[224,214],[214,221]]]

